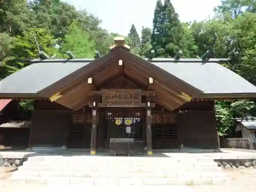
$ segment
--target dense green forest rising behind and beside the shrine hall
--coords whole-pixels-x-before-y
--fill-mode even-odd
[[[210,56],[232,58],[225,67],[256,85],[256,2],[223,0],[215,13],[202,22],[182,23],[171,1],[159,0],[152,26],[143,27],[139,35],[132,24],[126,44],[142,57],[153,49],[157,57],[174,57],[182,50],[183,57],[196,58],[211,47],[217,34]],[[102,29],[100,23],[97,16],[60,0],[1,1],[0,79],[29,65],[24,59],[38,57],[33,35],[50,57],[68,57],[68,50],[76,57],[93,57],[95,50],[108,53],[119,34]],[[20,104],[28,108],[26,102]],[[216,101],[216,116],[219,134],[231,136],[231,118],[256,116],[256,106],[253,100]]]

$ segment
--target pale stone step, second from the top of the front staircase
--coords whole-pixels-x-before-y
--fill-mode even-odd
[[[166,167],[166,166],[199,166],[199,167],[205,167],[205,166],[218,166],[217,162],[210,161],[210,162],[168,162],[168,163],[150,163],[150,162],[141,162],[141,163],[125,163],[125,162],[116,162],[116,163],[106,163],[104,161],[102,162],[65,162],[65,161],[52,161],[52,162],[31,162],[31,161],[25,161],[23,163],[23,166],[77,166],[77,165],[86,165],[86,166],[108,166],[108,167]]]

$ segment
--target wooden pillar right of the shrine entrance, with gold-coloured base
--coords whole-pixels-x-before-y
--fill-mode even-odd
[[[147,155],[153,155],[152,151],[152,130],[151,130],[151,103],[150,99],[146,97],[146,148],[147,148]]]

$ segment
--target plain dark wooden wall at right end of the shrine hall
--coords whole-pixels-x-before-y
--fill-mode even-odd
[[[213,101],[186,103],[177,113],[178,142],[184,147],[217,148],[218,135]]]

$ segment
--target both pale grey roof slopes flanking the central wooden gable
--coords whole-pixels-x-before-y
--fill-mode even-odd
[[[30,66],[0,81],[1,93],[31,93],[45,89],[70,73],[86,66],[92,59],[35,60]],[[213,60],[212,60],[213,61]],[[159,68],[175,75],[204,94],[256,93],[251,83],[216,62],[202,63],[199,59],[174,62],[170,59],[153,59]]]

